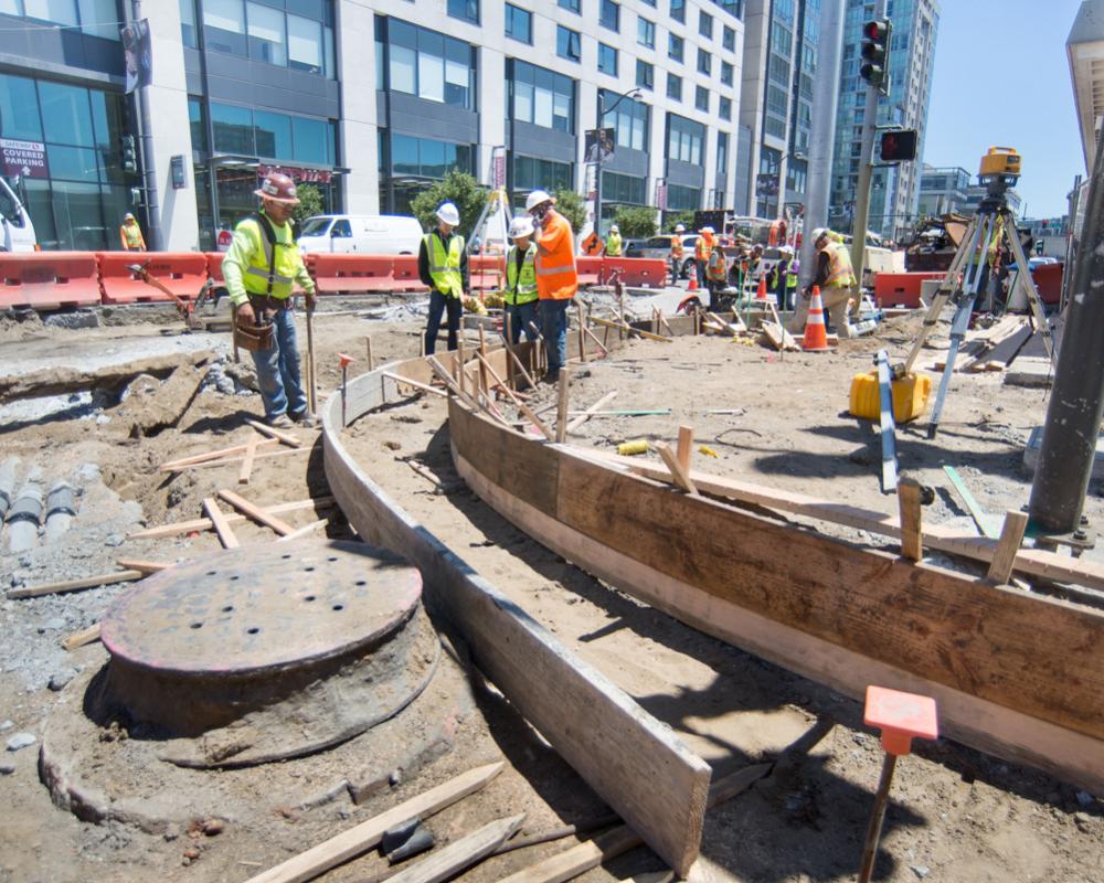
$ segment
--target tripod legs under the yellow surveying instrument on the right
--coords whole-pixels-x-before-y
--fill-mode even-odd
[[[979,295],[986,295],[991,308],[992,297],[996,292],[998,279],[995,266],[989,265],[990,249],[999,249],[1001,238],[1007,240],[1008,248],[1012,259],[1016,262],[1016,277],[1008,291],[1011,299],[1019,285],[1023,288],[1028,305],[1031,308],[1031,316],[1034,325],[1042,334],[1043,345],[1047,348],[1047,355],[1054,358],[1054,340],[1050,332],[1050,325],[1047,313],[1043,310],[1042,301],[1039,299],[1039,291],[1031,279],[1028,269],[1028,258],[1023,254],[1023,246],[1020,245],[1019,235],[1016,232],[1016,219],[1008,209],[1006,192],[1018,180],[1016,174],[981,174],[980,183],[987,187],[987,193],[977,214],[970,221],[963,236],[958,251],[955,252],[947,275],[943,278],[940,289],[932,299],[932,306],[924,317],[924,325],[921,328],[920,337],[912,344],[912,351],[904,365],[894,369],[894,379],[907,375],[920,355],[920,350],[931,336],[932,330],[938,325],[940,313],[949,300],[955,306],[955,316],[951,322],[951,349],[947,351],[946,363],[943,366],[943,379],[940,381],[940,392],[932,406],[932,418],[927,424],[927,437],[935,438],[940,427],[940,415],[943,413],[943,403],[947,397],[951,387],[951,375],[955,370],[955,359],[958,349],[966,339],[966,330],[969,327],[970,315],[974,312],[974,304]],[[985,287],[983,292],[981,288]]]

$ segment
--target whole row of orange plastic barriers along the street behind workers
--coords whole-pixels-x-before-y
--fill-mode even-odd
[[[31,252],[0,257],[0,309],[56,310],[99,305],[147,304],[171,298],[131,269],[146,265],[177,297],[193,300],[208,279],[224,285],[222,252]],[[425,292],[416,255],[309,254],[307,272],[319,295]],[[641,257],[576,258],[578,284],[599,285],[616,277],[627,286],[660,288],[667,262]],[[474,291],[506,284],[503,255],[471,255]]]

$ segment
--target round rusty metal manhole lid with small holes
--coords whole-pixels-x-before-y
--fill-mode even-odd
[[[113,657],[180,674],[251,674],[376,641],[422,596],[404,558],[363,543],[297,540],[225,550],[170,567],[103,620]]]

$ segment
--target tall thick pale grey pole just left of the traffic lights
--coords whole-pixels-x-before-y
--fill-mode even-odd
[[[820,41],[817,43],[813,125],[809,130],[808,182],[805,220],[802,224],[802,287],[813,280],[816,249],[808,234],[828,226],[831,160],[839,97],[839,63],[843,46],[843,0],[824,0],[820,7]]]

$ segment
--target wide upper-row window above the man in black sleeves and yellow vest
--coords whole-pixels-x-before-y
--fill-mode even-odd
[[[436,31],[388,20],[391,91],[474,110],[473,49]]]

